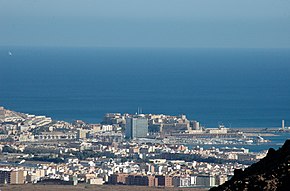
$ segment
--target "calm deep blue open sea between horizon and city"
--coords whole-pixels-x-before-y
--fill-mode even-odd
[[[290,50],[1,47],[0,105],[66,121],[142,107],[206,127],[290,126]]]

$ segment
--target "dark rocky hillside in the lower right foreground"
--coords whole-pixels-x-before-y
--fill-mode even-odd
[[[247,169],[235,170],[235,175],[210,191],[230,190],[290,190],[290,140],[275,151],[270,148],[265,158]]]

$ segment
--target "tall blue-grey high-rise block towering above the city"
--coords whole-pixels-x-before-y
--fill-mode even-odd
[[[125,136],[127,139],[144,138],[148,134],[148,119],[142,116],[126,118]]]

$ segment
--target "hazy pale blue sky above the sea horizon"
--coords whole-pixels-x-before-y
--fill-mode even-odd
[[[290,48],[290,0],[0,0],[0,45]]]

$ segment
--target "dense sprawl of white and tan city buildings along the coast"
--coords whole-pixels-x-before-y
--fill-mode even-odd
[[[212,187],[265,156],[179,140],[231,138],[185,115],[110,113],[100,124],[53,121],[0,107],[0,184],[125,184]],[[240,136],[235,133],[235,136]]]

